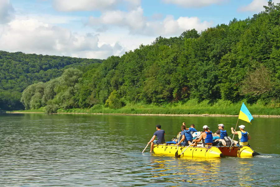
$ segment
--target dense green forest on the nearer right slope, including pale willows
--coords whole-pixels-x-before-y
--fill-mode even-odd
[[[279,107],[280,4],[269,1],[264,7],[251,18],[201,33],[193,29],[178,37],[157,37],[151,45],[91,64],[85,72],[67,69],[61,77],[28,86],[21,102],[26,109],[46,106],[48,113],[190,99]]]

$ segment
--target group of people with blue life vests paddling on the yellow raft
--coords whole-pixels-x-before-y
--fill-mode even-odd
[[[198,142],[201,142],[202,146],[216,146],[218,142],[225,142],[225,139],[228,137],[226,130],[224,130],[223,124],[218,124],[218,130],[215,133],[209,130],[207,125],[203,126],[203,131],[198,132],[194,128],[194,124],[191,124],[189,128],[186,128],[185,122],[181,126],[181,131],[179,132],[179,136],[177,138],[172,139],[172,141],[176,142],[176,145],[181,146],[198,146]],[[245,126],[239,126],[240,131],[234,131],[234,128],[231,127],[231,133],[238,135],[239,141],[233,140],[234,145],[246,146],[248,144],[248,140],[251,139],[248,132],[246,132]],[[194,134],[195,133],[195,134]],[[157,137],[157,140],[155,138]],[[213,138],[215,137],[215,138]],[[151,141],[151,151],[153,151],[154,144],[164,144],[165,141],[165,131],[161,129],[161,125],[156,125],[156,132],[152,137]],[[225,144],[223,144],[225,145]],[[233,144],[232,144],[233,145]]]

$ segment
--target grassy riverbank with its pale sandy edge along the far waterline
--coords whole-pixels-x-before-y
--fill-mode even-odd
[[[280,107],[264,106],[259,104],[246,104],[253,117],[280,117]],[[239,115],[241,104],[217,102],[209,103],[191,103],[184,104],[172,103],[161,106],[152,104],[128,104],[125,107],[112,109],[104,105],[96,104],[91,108],[80,109],[58,109],[57,113],[69,114],[96,114],[96,115],[138,115],[138,116],[221,116],[236,117]],[[38,110],[12,111],[7,113],[44,113],[44,107]]]

